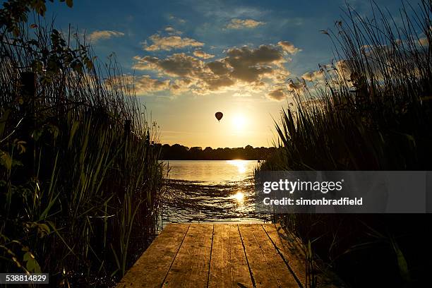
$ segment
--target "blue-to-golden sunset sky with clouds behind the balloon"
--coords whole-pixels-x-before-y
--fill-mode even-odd
[[[400,6],[376,2],[392,13]],[[371,14],[369,1],[348,3]],[[47,15],[64,32],[70,23],[85,33],[99,61],[115,53],[160,127],[160,143],[234,148],[273,145],[290,80],[330,63],[332,44],[320,30],[334,28],[344,7],[342,0],[81,0],[73,8],[49,3]]]

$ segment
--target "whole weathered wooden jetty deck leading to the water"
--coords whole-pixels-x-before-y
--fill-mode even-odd
[[[304,287],[305,267],[275,224],[169,224],[116,287]]]

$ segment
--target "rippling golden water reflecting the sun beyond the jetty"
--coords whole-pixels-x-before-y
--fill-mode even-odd
[[[255,160],[167,161],[163,222],[256,222]]]

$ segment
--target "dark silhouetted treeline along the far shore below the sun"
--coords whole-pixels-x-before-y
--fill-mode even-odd
[[[174,144],[157,144],[162,149],[163,160],[265,160],[276,148],[257,147],[251,145],[240,148],[191,147]]]

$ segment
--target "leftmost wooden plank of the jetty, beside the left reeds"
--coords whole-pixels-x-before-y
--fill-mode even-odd
[[[190,224],[168,224],[116,288],[161,287]]]

